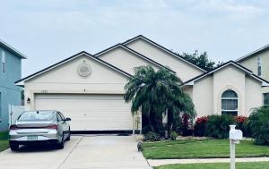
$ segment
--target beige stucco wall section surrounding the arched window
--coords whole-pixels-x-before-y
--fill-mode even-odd
[[[252,108],[263,104],[261,82],[233,65],[196,80],[186,89],[192,94],[197,116],[221,114],[221,95],[227,89],[232,89],[239,97],[239,115],[249,115]]]

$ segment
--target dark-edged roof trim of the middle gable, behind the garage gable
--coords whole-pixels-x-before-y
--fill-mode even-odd
[[[153,64],[157,65],[158,67],[165,68],[165,69],[169,70],[170,72],[174,72],[174,71],[172,71],[171,69],[169,69],[168,67],[162,65],[161,63],[157,63],[156,61],[153,61],[152,59],[148,58],[147,56],[142,55],[142,54],[140,54],[140,53],[134,51],[134,50],[131,49],[130,47],[127,47],[127,46],[125,46],[125,45],[123,45],[123,44],[120,44],[120,43],[117,44],[117,45],[115,45],[115,46],[110,46],[110,47],[108,47],[107,49],[102,50],[102,51],[100,51],[99,53],[95,54],[94,56],[95,56],[95,57],[99,57],[100,55],[103,55],[103,54],[105,54],[105,53],[107,53],[107,52],[109,52],[109,51],[111,51],[111,50],[114,50],[114,49],[116,49],[116,48],[118,48],[118,47],[123,48],[124,50],[126,50],[126,51],[128,51],[128,52],[130,52],[130,53],[132,53],[132,54],[134,54],[134,55],[137,55],[138,57],[143,58],[143,60],[146,60],[146,61],[148,61],[148,62],[150,62],[150,63],[153,63]],[[174,73],[176,73],[176,72],[174,72]]]

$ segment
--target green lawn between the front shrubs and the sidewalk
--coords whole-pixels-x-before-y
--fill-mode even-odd
[[[148,159],[230,157],[230,142],[229,139],[187,139],[143,143],[143,156]],[[240,141],[236,145],[236,156],[269,156],[269,146]]]

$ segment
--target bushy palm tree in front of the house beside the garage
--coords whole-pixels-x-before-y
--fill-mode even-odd
[[[167,110],[172,119],[179,118],[181,112],[195,115],[194,104],[181,89],[181,83],[176,74],[167,69],[155,72],[151,66],[140,66],[134,69],[134,76],[125,86],[125,100],[132,102],[133,114],[141,109],[152,131],[160,131],[162,116]]]

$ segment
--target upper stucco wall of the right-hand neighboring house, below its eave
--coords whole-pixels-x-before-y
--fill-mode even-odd
[[[252,72],[256,73],[257,75],[257,61],[258,57],[261,58],[261,66],[262,66],[262,75],[261,77],[264,78],[265,80],[269,80],[269,51],[266,50],[265,52],[253,55],[241,62],[243,66],[247,67],[247,69],[251,70]]]

